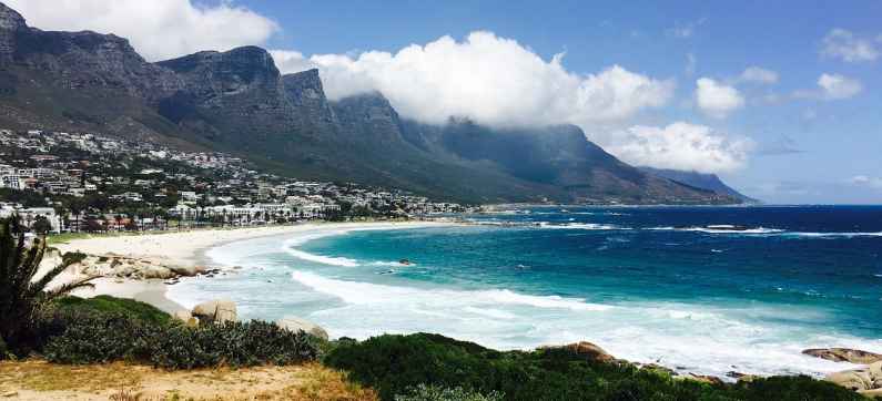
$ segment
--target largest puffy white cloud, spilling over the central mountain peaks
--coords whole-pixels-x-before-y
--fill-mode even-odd
[[[443,123],[470,117],[495,126],[621,121],[665,105],[670,80],[656,80],[619,65],[577,74],[564,54],[544,60],[515,40],[472,32],[464,41],[442,37],[395,53],[357,55],[273,51],[283,72],[318,68],[331,99],[379,91],[408,117]]]

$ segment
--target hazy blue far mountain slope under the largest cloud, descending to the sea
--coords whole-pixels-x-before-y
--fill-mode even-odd
[[[726,203],[727,196],[631,167],[588,141],[575,125],[493,130],[468,121],[407,124],[407,140],[452,161],[483,164],[566,193],[577,203]]]

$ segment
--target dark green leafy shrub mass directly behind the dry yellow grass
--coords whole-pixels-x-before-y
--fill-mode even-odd
[[[71,316],[61,316],[64,319]],[[81,312],[47,325],[58,332],[43,354],[57,363],[131,361],[166,369],[292,364],[318,358],[316,340],[263,321],[186,327],[116,312]]]

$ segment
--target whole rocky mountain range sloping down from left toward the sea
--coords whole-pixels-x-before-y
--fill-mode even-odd
[[[744,199],[632,167],[575,125],[423,124],[398,115],[382,93],[330,101],[317,70],[282,74],[257,47],[151,63],[123,38],[42,31],[2,3],[0,127],[223,151],[288,176],[466,203]]]

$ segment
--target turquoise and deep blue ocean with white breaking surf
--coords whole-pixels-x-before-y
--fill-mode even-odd
[[[849,368],[882,352],[882,207],[530,207],[465,226],[322,229],[206,251],[239,266],[173,286],[186,306],[300,316],[332,337],[437,332],[496,349],[590,341],[726,376]],[[408,259],[409,265],[399,263]]]

